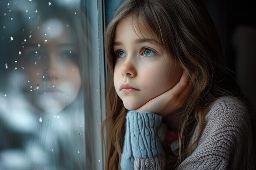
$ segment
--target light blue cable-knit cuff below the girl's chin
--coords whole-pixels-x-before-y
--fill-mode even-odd
[[[134,158],[157,157],[162,154],[162,146],[157,136],[157,128],[162,117],[153,113],[129,111],[126,115],[126,132],[130,131]]]

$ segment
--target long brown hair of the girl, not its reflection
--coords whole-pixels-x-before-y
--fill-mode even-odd
[[[115,13],[105,35],[109,66],[108,117],[103,122],[103,128],[107,127],[108,134],[106,170],[121,169],[127,110],[113,85],[115,55],[112,42],[117,24],[126,17],[131,18],[133,27],[137,28],[140,35],[146,33],[156,38],[166,53],[186,71],[189,78],[195,74],[195,81],[192,82],[193,91],[184,104],[182,123],[178,132],[180,149],[179,157],[175,161],[177,166],[193,152],[198,143],[204,128],[204,116],[209,111],[211,103],[221,96],[236,96],[239,88],[228,69],[222,66],[223,55],[217,31],[200,1],[126,0]],[[198,137],[190,142],[197,124]]]

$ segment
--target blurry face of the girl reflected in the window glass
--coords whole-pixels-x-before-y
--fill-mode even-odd
[[[21,52],[26,91],[41,110],[56,113],[72,103],[79,92],[77,51],[60,21],[49,20],[38,28],[32,31]]]

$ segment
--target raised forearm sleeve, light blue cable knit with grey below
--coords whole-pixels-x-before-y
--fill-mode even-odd
[[[157,130],[162,117],[153,113],[129,111],[121,156],[122,170],[161,170],[163,150]]]

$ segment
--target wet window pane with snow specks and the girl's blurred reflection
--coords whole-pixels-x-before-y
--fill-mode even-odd
[[[79,1],[0,4],[0,169],[85,169],[90,26]]]

